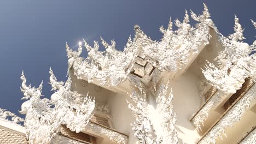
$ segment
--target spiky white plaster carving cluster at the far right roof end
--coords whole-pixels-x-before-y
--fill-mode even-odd
[[[228,93],[235,93],[240,89],[247,77],[255,81],[256,75],[256,55],[249,55],[255,51],[256,45],[243,43],[243,29],[238,21],[235,15],[235,33],[228,38],[218,33],[218,39],[224,47],[215,59],[218,67],[208,62],[205,70],[202,70],[211,85]]]

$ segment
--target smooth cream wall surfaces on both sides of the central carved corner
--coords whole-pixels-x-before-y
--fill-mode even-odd
[[[137,138],[134,136],[131,123],[135,122],[132,112],[128,108],[126,100],[130,98],[126,93],[114,93],[102,88],[101,92],[95,92],[95,85],[89,83],[84,87],[80,84],[80,80],[73,79],[73,87],[79,92],[96,96],[96,101],[108,104],[112,115],[114,128],[121,133],[129,135],[129,144],[135,144]],[[176,80],[170,81],[170,87],[173,89],[174,112],[177,115],[177,132],[179,143],[194,143],[199,139],[194,125],[189,121],[189,117],[195,113],[200,107],[199,98],[199,78],[195,74],[187,70]]]

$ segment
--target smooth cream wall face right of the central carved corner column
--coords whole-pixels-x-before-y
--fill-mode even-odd
[[[173,109],[177,116],[176,129],[181,144],[195,143],[195,140],[199,138],[194,125],[189,121],[189,117],[200,107],[198,81],[194,74],[187,71],[178,79],[170,82],[174,97]]]

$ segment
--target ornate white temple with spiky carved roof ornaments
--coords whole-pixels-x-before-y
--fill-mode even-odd
[[[106,51],[67,44],[68,79],[50,68],[51,99],[22,72],[26,118],[0,109],[0,143],[256,143],[256,40],[242,41],[237,16],[222,35],[205,4],[190,16],[161,26],[160,41],[136,25],[124,51],[102,38]]]

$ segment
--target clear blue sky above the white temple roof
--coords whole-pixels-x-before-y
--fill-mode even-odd
[[[49,68],[58,80],[66,80],[66,41],[77,49],[82,38],[92,44],[102,36],[114,39],[117,49],[123,50],[135,24],[159,40],[159,26],[167,27],[170,17],[182,20],[185,9],[201,14],[203,2],[224,35],[233,32],[236,14],[245,28],[245,41],[252,44],[256,30],[250,19],[256,21],[255,0],[0,1],[0,107],[21,116],[22,70],[32,86],[44,80],[43,94],[49,97]]]

